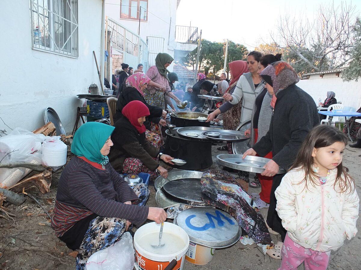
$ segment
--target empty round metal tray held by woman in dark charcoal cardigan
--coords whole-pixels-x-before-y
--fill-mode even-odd
[[[237,154],[220,154],[217,156],[219,163],[221,165],[240,170],[246,172],[256,172],[261,174],[266,169],[264,166],[267,162],[271,159],[269,158],[262,158],[262,157],[255,157],[255,156],[247,156],[242,158],[243,155]],[[277,174],[284,174],[286,170],[280,168]]]

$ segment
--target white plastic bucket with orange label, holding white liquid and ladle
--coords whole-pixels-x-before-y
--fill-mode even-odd
[[[189,237],[187,233],[179,226],[173,223],[164,222],[163,233],[171,233],[177,235],[184,242],[184,247],[176,253],[167,255],[158,255],[144,250],[139,246],[138,240],[144,235],[149,233],[159,234],[160,225],[155,222],[147,223],[140,227],[134,234],[134,248],[135,248],[135,263],[134,267],[136,270],[161,270],[165,269],[169,263],[175,259],[177,265],[173,270],[182,270],[184,265],[184,258],[189,246]],[[172,243],[165,243],[172,244]]]

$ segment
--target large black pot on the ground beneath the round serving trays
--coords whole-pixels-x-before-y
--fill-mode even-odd
[[[165,131],[167,140],[164,153],[187,161],[183,166],[171,165],[182,170],[201,170],[212,166],[212,140],[185,138],[177,133],[176,129],[169,133]]]

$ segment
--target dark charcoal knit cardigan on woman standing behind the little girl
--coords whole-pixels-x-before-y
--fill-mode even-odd
[[[273,161],[288,169],[306,135],[319,125],[316,103],[295,84],[277,92],[269,131],[252,148],[261,157],[272,151]]]

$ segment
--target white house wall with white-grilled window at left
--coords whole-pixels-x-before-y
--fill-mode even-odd
[[[45,3],[45,4],[43,4]],[[44,125],[52,107],[69,134],[77,94],[100,89],[101,0],[2,0],[0,24],[0,130]],[[6,26],[6,27],[5,27]],[[9,127],[8,127],[9,126]]]

